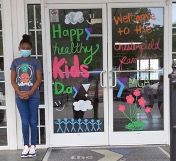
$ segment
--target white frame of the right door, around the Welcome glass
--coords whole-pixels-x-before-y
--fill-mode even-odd
[[[142,145],[142,144],[169,144],[169,61],[171,53],[169,44],[169,8],[166,3],[109,3],[108,4],[108,71],[112,70],[112,20],[111,8],[138,8],[138,7],[164,7],[164,131],[123,131],[113,132],[113,88],[109,88],[109,144],[110,145]],[[171,37],[170,37],[171,38]],[[169,55],[169,56],[168,56]],[[112,82],[112,79],[109,80]],[[110,85],[112,86],[112,85]],[[125,138],[125,139],[124,139]]]

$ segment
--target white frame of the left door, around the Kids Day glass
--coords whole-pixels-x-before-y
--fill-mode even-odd
[[[107,71],[107,20],[106,20],[106,4],[47,4],[46,6],[46,43],[47,43],[47,60],[48,60],[48,98],[49,98],[49,135],[50,146],[96,146],[96,145],[108,145],[108,91],[104,88],[104,132],[93,133],[53,133],[53,97],[52,97],[52,69],[51,69],[51,43],[50,43],[50,21],[49,21],[49,9],[98,9],[102,8],[102,31],[103,31],[103,70]],[[107,72],[103,74],[104,78],[107,78]],[[104,79],[104,84],[107,86],[107,79]],[[74,138],[70,142],[70,139]],[[85,139],[87,138],[87,139]]]

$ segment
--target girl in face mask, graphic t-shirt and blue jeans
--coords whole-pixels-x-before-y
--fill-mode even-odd
[[[20,57],[11,65],[11,83],[15,90],[16,104],[22,121],[24,149],[21,157],[36,156],[37,116],[40,103],[39,86],[42,68],[39,60],[31,57],[32,42],[23,35],[19,44]],[[30,128],[30,130],[29,130]],[[29,141],[31,131],[31,141]]]

